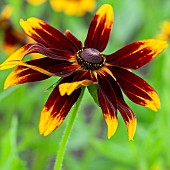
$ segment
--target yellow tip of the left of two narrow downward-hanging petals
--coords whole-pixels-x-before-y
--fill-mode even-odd
[[[110,139],[117,130],[118,119],[117,117],[111,117],[109,114],[104,114],[104,117],[108,127],[108,139]]]

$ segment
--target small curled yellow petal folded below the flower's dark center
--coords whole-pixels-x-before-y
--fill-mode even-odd
[[[93,84],[91,80],[82,80],[82,81],[76,81],[72,83],[62,83],[59,85],[59,91],[61,96],[64,96],[67,94],[68,96],[73,93],[74,90],[82,87],[82,86],[89,86],[90,84]]]

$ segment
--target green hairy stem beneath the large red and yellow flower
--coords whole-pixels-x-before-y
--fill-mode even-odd
[[[75,106],[72,110],[70,119],[68,120],[68,124],[66,126],[64,135],[61,139],[60,147],[58,149],[58,154],[57,154],[55,165],[54,165],[54,170],[61,170],[61,168],[62,168],[62,163],[63,163],[63,159],[64,159],[64,154],[65,154],[68,138],[70,136],[74,121],[76,119],[77,111],[79,109],[83,94],[84,94],[84,87],[82,88],[81,94],[80,94],[77,102],[75,103]]]

